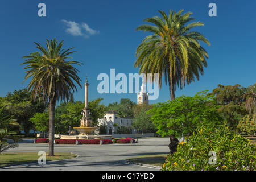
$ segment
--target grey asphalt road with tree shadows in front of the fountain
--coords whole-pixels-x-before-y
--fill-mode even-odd
[[[169,152],[169,138],[143,138],[134,144],[105,144],[105,145],[55,145],[55,152],[72,152],[77,158],[47,162],[45,166],[38,163],[22,164],[0,168],[2,170],[26,171],[151,171],[157,168],[120,163],[121,160],[138,155],[164,154]],[[34,144],[32,140],[24,140],[18,148],[7,152],[48,152],[48,144]]]

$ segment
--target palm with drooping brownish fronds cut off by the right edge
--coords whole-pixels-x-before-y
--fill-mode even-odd
[[[256,120],[254,120],[256,117],[256,83],[246,89],[246,93],[243,97],[246,97],[245,106],[249,110],[249,114],[252,114],[254,107],[253,121],[256,122]]]

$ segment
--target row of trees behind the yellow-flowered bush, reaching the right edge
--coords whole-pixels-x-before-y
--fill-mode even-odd
[[[195,96],[154,104],[147,113],[162,136],[191,135],[201,125],[223,124],[235,133],[254,135],[256,132],[256,84],[218,85],[211,93],[205,90]]]

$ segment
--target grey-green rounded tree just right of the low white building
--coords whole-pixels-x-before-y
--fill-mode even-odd
[[[138,114],[135,115],[133,122],[131,123],[131,127],[141,131],[143,137],[143,133],[155,130],[154,123],[150,121],[150,118],[151,115],[147,114],[147,110],[142,109]]]

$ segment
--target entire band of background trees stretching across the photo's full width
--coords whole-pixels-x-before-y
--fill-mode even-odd
[[[209,123],[226,121],[236,133],[244,132],[253,135],[256,132],[256,84],[243,88],[241,85],[218,85],[211,93],[200,92],[193,97],[181,96],[176,100],[154,105],[137,105],[129,98],[105,106],[103,98],[89,102],[92,111],[93,125],[98,126],[98,119],[103,118],[108,110],[118,112],[118,116],[133,117],[131,127],[116,126],[118,134],[129,134],[133,129],[140,133],[155,133],[162,136],[174,134],[180,136],[191,134],[203,121]],[[31,101],[31,93],[26,89],[15,90],[0,97],[2,113],[16,119],[19,130],[29,135],[30,130],[48,132],[48,103]],[[69,133],[69,126],[80,125],[81,110],[84,102],[75,101],[73,96],[68,102],[56,106],[55,133]],[[2,122],[2,121],[1,121]],[[100,133],[106,133],[105,126],[100,127]]]

